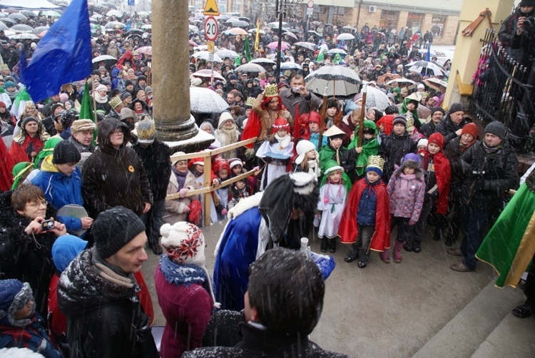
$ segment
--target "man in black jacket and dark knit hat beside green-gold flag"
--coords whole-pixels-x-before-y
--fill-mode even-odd
[[[449,255],[462,256],[462,262],[451,266],[454,271],[476,270],[475,255],[483,242],[485,225],[503,208],[504,190],[519,185],[519,163],[507,134],[503,123],[491,122],[485,127],[484,140],[465,150],[459,158],[466,175],[460,189],[464,238],[459,249],[448,250]]]

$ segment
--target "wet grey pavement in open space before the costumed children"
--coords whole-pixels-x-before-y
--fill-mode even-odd
[[[210,273],[213,272],[214,265],[213,250],[223,227],[223,223],[218,223],[203,228],[208,243],[205,250],[206,266]],[[344,261],[349,247],[339,243],[337,252],[332,254],[337,267],[326,281],[323,313],[319,324],[311,334],[312,340],[324,349],[350,354],[353,357],[412,357],[454,317],[458,319],[458,313],[464,312],[464,307],[489,286],[494,273],[489,265],[481,262],[475,272],[450,270],[449,266],[457,262],[459,257],[448,255],[449,247],[444,245],[443,241],[433,241],[429,227],[426,234],[422,252],[403,251],[403,262],[399,264],[393,260],[385,264],[374,252],[370,256],[370,265],[364,269],[358,268],[356,261],[351,263]],[[317,238],[315,240],[311,238],[310,243],[313,251],[320,252]],[[158,307],[158,298],[153,285],[153,274],[157,264],[158,257],[150,252],[149,260],[143,266],[143,273],[152,290],[156,311],[155,324],[163,325],[165,319]],[[486,288],[489,300],[493,300],[494,290],[496,294],[500,291],[494,287]],[[504,315],[524,300],[519,290],[511,288],[505,290],[513,291],[513,295],[512,298],[508,297],[500,303]],[[488,312],[484,305],[481,306],[481,312],[478,310],[479,304],[476,302],[472,306],[474,305],[475,308],[472,307],[467,313],[472,315],[467,318],[468,322],[477,322],[477,318],[493,314]],[[477,317],[479,314],[481,317]],[[499,317],[498,322],[501,318]],[[535,317],[531,317],[530,320],[531,322],[521,323],[534,328]],[[510,319],[510,322],[509,325],[514,326],[515,319]],[[466,325],[466,322],[460,324]],[[474,327],[474,331],[477,330],[478,328]],[[509,334],[508,332],[505,334]],[[535,334],[535,331],[531,332]],[[483,342],[487,335],[488,333],[474,340],[479,339],[478,342]],[[448,337],[446,335],[446,340]],[[462,337],[452,339],[452,342],[449,342],[452,347],[447,346],[447,352],[450,353],[437,354],[436,357],[470,357],[472,354],[465,355],[466,352],[475,352],[479,344],[470,347],[468,351],[455,353],[453,348],[456,342],[462,339]],[[516,344],[512,337],[503,340],[511,345]],[[531,339],[531,344],[534,344],[533,342],[535,337]],[[535,344],[532,349],[531,352],[534,354],[525,356],[516,354],[515,357],[534,357]],[[486,354],[486,357],[498,356]]]

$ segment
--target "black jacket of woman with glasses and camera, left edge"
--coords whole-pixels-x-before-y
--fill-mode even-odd
[[[51,250],[56,235],[46,232],[35,235],[35,239],[26,235],[24,229],[31,220],[11,208],[12,193],[0,194],[0,280],[28,282],[34,291],[36,310],[46,317],[49,283],[54,275]],[[55,216],[56,209],[48,205],[46,219]]]

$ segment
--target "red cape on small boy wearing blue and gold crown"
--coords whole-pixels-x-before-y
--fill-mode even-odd
[[[350,191],[340,220],[340,227],[338,227],[340,242],[351,244],[357,241],[358,225],[355,213],[359,208],[360,195],[367,186],[366,179],[362,178],[353,185]],[[390,200],[387,185],[384,183],[373,185],[371,188],[375,190],[377,208],[375,210],[375,232],[372,236],[370,250],[382,252],[390,248]]]

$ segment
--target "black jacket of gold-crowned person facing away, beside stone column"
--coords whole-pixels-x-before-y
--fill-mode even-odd
[[[167,185],[171,175],[170,149],[155,139],[151,145],[143,147],[140,143],[133,145],[151,183],[154,201],[165,199]]]

